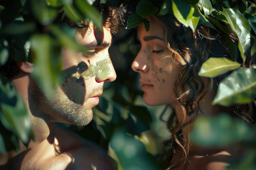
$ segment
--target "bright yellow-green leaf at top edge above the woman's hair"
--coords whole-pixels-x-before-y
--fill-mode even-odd
[[[173,13],[177,20],[195,31],[200,20],[200,13],[196,5],[191,6],[179,0],[173,0]]]

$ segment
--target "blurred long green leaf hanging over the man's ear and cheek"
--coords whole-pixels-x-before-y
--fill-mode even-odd
[[[37,82],[45,95],[51,98],[61,82],[61,47],[49,35],[35,34],[31,37],[31,50],[34,54],[34,72]]]

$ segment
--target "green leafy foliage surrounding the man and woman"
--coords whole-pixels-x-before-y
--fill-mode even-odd
[[[133,2],[132,0],[106,1],[115,6]],[[135,13],[128,17],[126,29],[144,24],[148,31],[150,24],[146,16],[171,13],[179,22],[193,31],[200,23],[222,32],[233,61],[225,58],[210,58],[202,65],[199,73],[201,76],[215,77],[232,71],[220,82],[213,104],[229,106],[251,102],[256,98],[256,67],[251,65],[251,61],[255,62],[256,58],[255,0],[137,1],[137,6],[132,9]],[[101,2],[106,3],[105,0]],[[92,7],[93,3],[94,0],[2,0],[0,2],[0,65],[4,65],[8,58],[20,62],[31,61],[31,54],[33,54],[35,57],[33,76],[43,87],[45,94],[51,97],[54,88],[61,82],[59,76],[62,66],[61,47],[68,45],[74,50],[88,52],[87,49],[76,44],[75,29],[60,26],[54,22],[58,11],[62,9],[74,24],[79,24],[81,20],[92,20],[100,29],[103,18],[97,9]],[[127,37],[123,37],[126,40],[125,43],[123,43],[124,40],[118,41],[117,36],[114,37],[114,42],[117,45],[120,43],[120,49],[121,45],[129,44],[126,48],[128,50],[119,51],[122,51],[125,56],[135,56],[136,49],[132,48],[135,45],[130,36],[132,31],[126,31],[128,31]],[[229,38],[228,33],[231,32],[238,36],[238,44]],[[238,54],[242,55],[242,64],[238,62]],[[126,61],[129,62],[125,63],[124,68],[126,66],[130,68],[132,59],[127,58]],[[130,74],[128,68],[118,71],[117,68],[119,78],[104,87],[105,91],[100,98],[100,104],[94,109],[94,121],[80,131],[70,126],[67,128],[106,149],[110,146],[113,155],[117,157],[119,167],[124,170],[136,169],[136,167],[157,169],[154,157],[146,152],[145,145],[139,141],[138,137],[142,132],[153,129],[154,114],[151,114],[150,109],[141,102],[137,102],[141,92],[137,91],[136,84],[133,83],[137,78],[136,74]],[[92,131],[95,133],[91,133]],[[240,141],[248,146],[248,158],[251,159],[237,161],[235,166],[232,164],[228,168],[238,170],[255,167],[253,160],[256,155],[250,152],[250,149],[256,147],[253,143],[255,134],[255,130],[248,128],[245,124],[231,121],[230,117],[222,115],[212,120],[202,119],[191,136],[199,145],[228,145]],[[27,144],[29,138],[33,138],[33,132],[26,107],[12,85],[1,75],[0,152],[12,149],[18,151],[18,139]],[[153,140],[158,140],[153,137],[148,139],[151,143],[154,142]]]

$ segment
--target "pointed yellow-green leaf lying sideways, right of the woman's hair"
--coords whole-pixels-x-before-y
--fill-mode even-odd
[[[227,58],[215,58],[211,57],[206,62],[202,64],[202,67],[198,73],[200,76],[204,77],[216,77],[218,75],[223,75],[230,70],[234,70],[241,66],[238,62],[233,62]]]

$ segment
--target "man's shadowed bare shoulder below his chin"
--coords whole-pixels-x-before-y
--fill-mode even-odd
[[[62,155],[68,155],[72,163],[67,169],[115,170],[115,161],[106,150],[87,141],[73,132],[55,127],[57,149]]]

